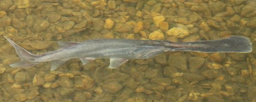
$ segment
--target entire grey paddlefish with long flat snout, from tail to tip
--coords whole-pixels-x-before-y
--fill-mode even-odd
[[[5,37],[6,38],[6,37]],[[20,62],[10,64],[15,68],[27,68],[40,62],[52,62],[51,71],[70,59],[80,59],[85,65],[94,59],[110,59],[108,68],[118,68],[128,59],[147,59],[166,51],[239,52],[252,51],[252,44],[246,37],[231,36],[220,40],[180,42],[158,40],[102,39],[84,42],[58,42],[60,48],[35,55],[6,38],[15,48]]]

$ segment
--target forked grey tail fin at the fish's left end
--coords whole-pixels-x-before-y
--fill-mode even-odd
[[[36,57],[38,57],[37,55],[31,54],[29,51],[26,51],[24,48],[21,48],[19,45],[15,44],[9,38],[4,38],[12,44],[12,46],[15,48],[16,53],[20,57],[20,62],[10,64],[10,67],[26,68],[38,64],[37,62],[32,62]]]

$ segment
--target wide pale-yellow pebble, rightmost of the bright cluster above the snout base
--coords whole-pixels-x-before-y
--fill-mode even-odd
[[[174,27],[166,31],[166,34],[169,36],[176,36],[178,38],[184,38],[189,35],[189,31],[184,28]]]

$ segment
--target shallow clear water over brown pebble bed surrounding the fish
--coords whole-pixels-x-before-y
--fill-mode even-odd
[[[19,61],[3,36],[42,54],[57,41],[102,38],[216,40],[230,35],[256,40],[255,0],[1,0],[0,102],[252,102],[256,100],[256,50],[251,53],[175,51],[129,60],[109,69],[109,59],[82,65],[73,59],[56,71],[50,62],[11,68]]]

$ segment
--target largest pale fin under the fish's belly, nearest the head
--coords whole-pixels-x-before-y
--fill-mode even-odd
[[[110,59],[110,65],[108,68],[114,69],[118,68],[120,65],[128,61],[128,59],[123,59],[123,58],[111,58]]]

